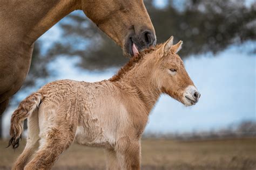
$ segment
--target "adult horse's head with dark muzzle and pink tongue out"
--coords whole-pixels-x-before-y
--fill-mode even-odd
[[[77,0],[78,1],[78,0]],[[81,7],[100,30],[131,56],[156,45],[156,34],[143,0],[82,0]]]

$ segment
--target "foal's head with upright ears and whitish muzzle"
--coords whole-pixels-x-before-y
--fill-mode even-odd
[[[200,93],[188,76],[183,61],[177,54],[182,41],[173,45],[173,37],[167,40],[156,51],[154,64],[154,79],[162,93],[166,93],[185,105],[196,104]]]

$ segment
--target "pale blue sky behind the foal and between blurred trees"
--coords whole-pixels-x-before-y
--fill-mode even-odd
[[[40,38],[43,52],[46,52],[61,34],[58,24],[46,32]],[[150,114],[145,131],[208,131],[241,121],[256,121],[256,55],[252,53],[255,46],[256,41],[246,41],[241,45],[231,45],[217,54],[206,53],[187,58],[184,61],[185,68],[200,91],[199,102],[192,107],[185,107],[173,98],[162,95]],[[60,79],[95,82],[109,79],[119,69],[89,72],[76,67],[79,62],[78,57],[71,59],[65,55],[53,60],[48,68],[55,76],[50,77],[48,82]],[[42,80],[37,83],[41,83],[40,81]],[[33,89],[35,90],[37,89]],[[18,97],[22,100],[26,95],[21,94]],[[10,116],[14,109],[6,111],[3,117],[3,132],[9,131]],[[4,133],[4,136],[6,135]]]

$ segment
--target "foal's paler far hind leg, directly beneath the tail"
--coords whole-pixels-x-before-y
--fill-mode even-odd
[[[32,154],[38,147],[39,140],[39,125],[38,125],[38,110],[35,110],[28,118],[28,138],[26,146],[21,155],[19,155],[12,169],[24,169],[26,162],[29,161]]]

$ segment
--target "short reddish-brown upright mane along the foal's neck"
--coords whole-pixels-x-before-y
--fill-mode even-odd
[[[127,73],[129,70],[131,70],[136,63],[138,63],[140,60],[142,60],[144,58],[144,56],[146,54],[152,53],[153,51],[156,51],[156,49],[159,47],[159,45],[157,45],[156,47],[151,47],[151,48],[147,48],[145,49],[143,52],[140,52],[138,55],[133,56],[129,62],[126,63],[126,65],[124,65],[122,68],[119,69],[118,73],[116,75],[113,75],[109,81],[118,81],[120,80],[125,73]]]

